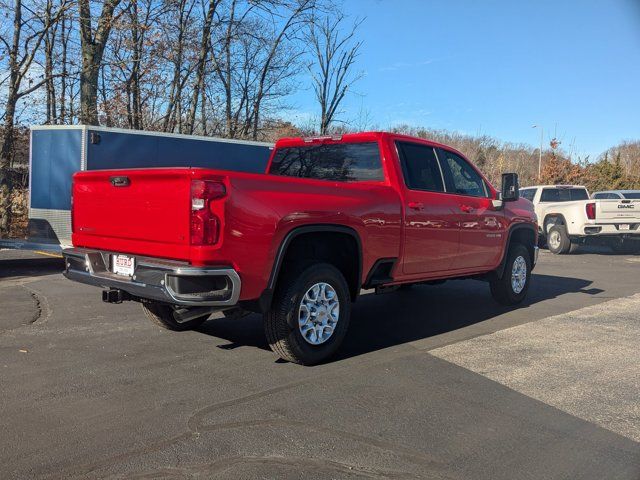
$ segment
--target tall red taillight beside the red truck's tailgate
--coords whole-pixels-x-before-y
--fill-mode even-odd
[[[191,245],[214,245],[220,236],[220,219],[214,200],[224,198],[224,183],[191,181]]]

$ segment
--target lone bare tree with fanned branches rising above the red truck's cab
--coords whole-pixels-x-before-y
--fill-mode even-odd
[[[362,74],[354,73],[353,66],[361,41],[354,42],[358,26],[356,22],[346,33],[342,25],[346,17],[338,13],[309,20],[307,41],[313,49],[314,61],[309,65],[316,100],[320,104],[320,134],[328,132],[340,113],[340,103]]]

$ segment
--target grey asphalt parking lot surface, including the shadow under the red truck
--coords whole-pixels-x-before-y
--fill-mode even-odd
[[[340,355],[173,333],[0,251],[1,478],[640,478],[640,256],[541,252],[526,303],[364,292]],[[634,296],[635,295],[635,296]]]

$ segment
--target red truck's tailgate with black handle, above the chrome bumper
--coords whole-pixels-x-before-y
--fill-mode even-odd
[[[188,258],[191,174],[188,168],[75,174],[74,245]]]

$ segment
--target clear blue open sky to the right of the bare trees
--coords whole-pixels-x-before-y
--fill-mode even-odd
[[[640,139],[640,0],[345,0],[364,76],[342,119],[544,144]],[[317,115],[299,92],[297,120]]]

